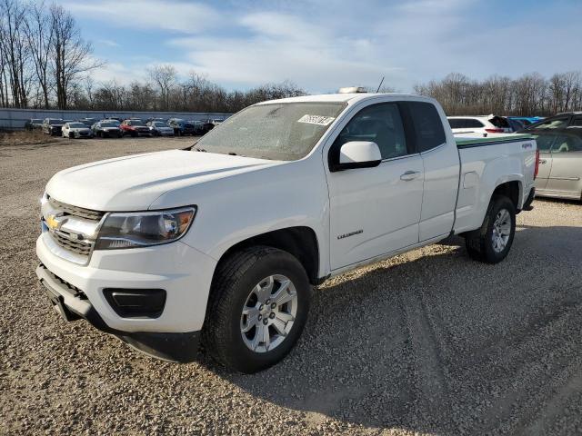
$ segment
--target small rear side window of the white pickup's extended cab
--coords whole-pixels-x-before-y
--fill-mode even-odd
[[[434,104],[426,102],[406,102],[410,111],[416,149],[419,153],[445,144],[445,129]]]

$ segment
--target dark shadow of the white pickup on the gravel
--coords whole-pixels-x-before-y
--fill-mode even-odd
[[[560,418],[541,408],[579,372],[580,246],[580,227],[519,226],[507,260],[488,265],[453,237],[327,282],[275,367],[241,375],[206,364],[307,421],[529,432]]]

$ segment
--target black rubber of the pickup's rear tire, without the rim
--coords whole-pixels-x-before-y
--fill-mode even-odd
[[[507,211],[510,219],[510,229],[505,248],[497,251],[493,242],[493,231],[497,215]],[[507,257],[516,233],[516,207],[505,195],[494,195],[485,214],[481,228],[469,232],[465,236],[468,255],[479,262],[499,263]]]

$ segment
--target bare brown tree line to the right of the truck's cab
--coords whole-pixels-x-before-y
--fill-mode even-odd
[[[452,73],[442,80],[417,84],[415,92],[436,98],[447,115],[547,116],[582,110],[579,71],[557,73],[549,79],[532,73],[517,79],[493,75],[482,81]]]

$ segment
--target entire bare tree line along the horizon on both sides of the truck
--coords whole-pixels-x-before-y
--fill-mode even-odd
[[[228,91],[196,71],[179,76],[170,64],[154,65],[143,80],[130,84],[96,83],[92,74],[104,65],[62,6],[0,0],[1,107],[234,113],[256,102],[306,94],[288,81]],[[435,97],[449,115],[549,115],[582,109],[582,74],[577,71],[550,78],[493,75],[480,81],[452,73],[414,89]]]

